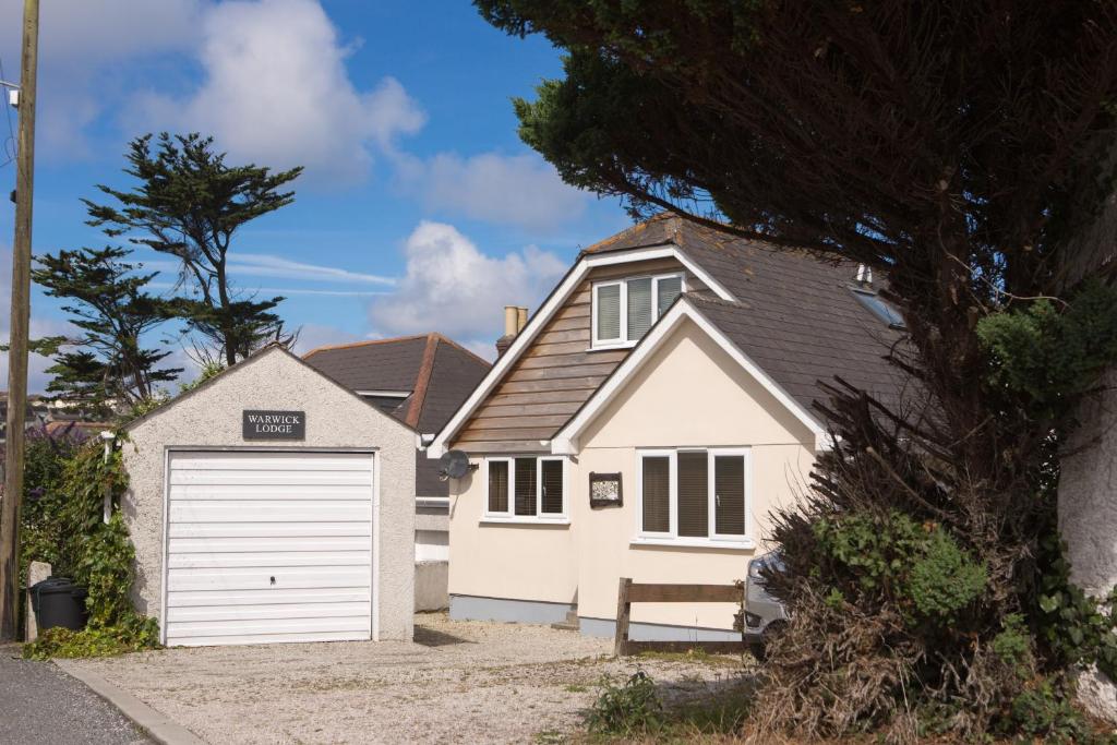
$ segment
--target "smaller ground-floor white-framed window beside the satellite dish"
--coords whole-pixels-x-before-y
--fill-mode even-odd
[[[566,519],[566,458],[509,456],[485,459],[485,517]]]

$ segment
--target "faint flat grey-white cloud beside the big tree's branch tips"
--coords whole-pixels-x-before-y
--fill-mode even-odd
[[[590,199],[534,153],[440,153],[426,161],[400,156],[397,164],[403,189],[428,209],[475,220],[554,228],[580,217]]]

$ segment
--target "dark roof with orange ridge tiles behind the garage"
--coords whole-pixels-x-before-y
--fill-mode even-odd
[[[442,336],[422,334],[382,338],[307,352],[304,360],[353,391],[408,391],[392,405],[389,399],[374,403],[419,432],[437,432],[488,372],[490,364]],[[416,495],[448,496],[439,479],[439,464],[416,451]]]

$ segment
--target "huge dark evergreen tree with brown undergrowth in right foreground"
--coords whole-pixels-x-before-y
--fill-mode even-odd
[[[1083,239],[1117,175],[1117,6],[475,1],[567,52],[515,102],[567,182],[866,262],[904,312],[909,409],[831,381],[838,445],[777,529],[793,618],[770,723],[903,739],[928,715],[973,736],[1018,669],[1117,671],[1044,541],[1076,404],[1117,355],[1113,245]],[[922,617],[905,582],[926,572],[944,604]],[[991,651],[1021,618],[1037,668],[1027,644],[1021,668]]]

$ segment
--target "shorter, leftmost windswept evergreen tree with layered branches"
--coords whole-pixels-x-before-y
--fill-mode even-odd
[[[144,292],[154,274],[123,259],[122,248],[85,248],[36,258],[31,277],[78,329],[73,337],[36,342],[36,351],[54,357],[47,370],[49,393],[80,401],[102,416],[150,399],[159,383],[173,381],[181,367],[162,367],[166,351],[145,348],[143,335],[169,317],[166,304]]]

